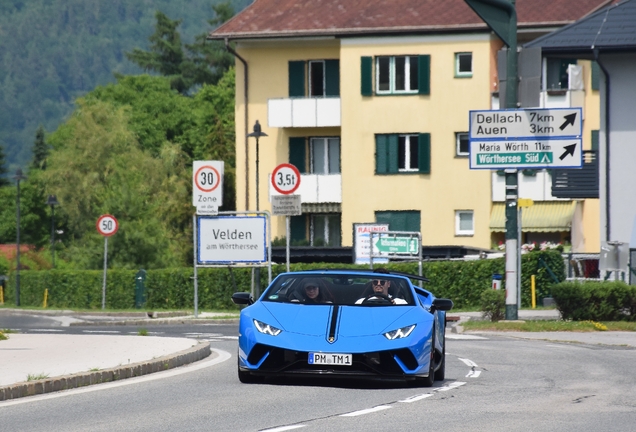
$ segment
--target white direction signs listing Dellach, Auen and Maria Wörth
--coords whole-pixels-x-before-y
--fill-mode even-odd
[[[470,168],[581,168],[581,108],[470,112]]]

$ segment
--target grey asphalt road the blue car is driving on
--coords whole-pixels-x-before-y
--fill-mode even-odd
[[[316,380],[244,385],[236,377],[235,325],[148,330],[167,336],[198,332],[231,357],[0,403],[2,429],[579,432],[633,430],[636,424],[636,350],[624,347],[449,334],[447,379],[432,389]]]

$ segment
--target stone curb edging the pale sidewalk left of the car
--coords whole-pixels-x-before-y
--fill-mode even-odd
[[[0,401],[148,375],[194,363],[210,356],[211,353],[210,342],[199,342],[187,350],[126,366],[11,384],[0,387]]]

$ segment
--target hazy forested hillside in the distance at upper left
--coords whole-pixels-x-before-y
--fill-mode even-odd
[[[138,74],[126,59],[147,49],[155,12],[182,20],[182,40],[211,30],[212,6],[222,0],[1,0],[0,145],[9,172],[32,158],[38,126],[52,132],[74,100],[113,72]],[[252,0],[231,0],[239,12]]]

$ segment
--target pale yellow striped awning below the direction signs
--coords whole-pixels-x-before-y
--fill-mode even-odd
[[[563,232],[572,228],[576,201],[534,202],[521,212],[522,232]],[[490,213],[490,231],[506,231],[505,203],[493,203]]]

